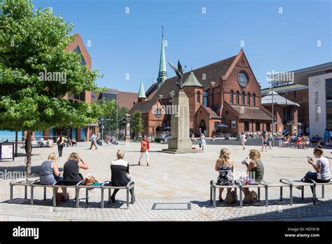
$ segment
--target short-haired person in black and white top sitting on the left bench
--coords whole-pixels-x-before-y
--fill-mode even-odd
[[[118,159],[111,162],[111,184],[113,187],[125,187],[130,182],[130,174],[129,174],[129,163],[124,161],[125,152],[123,150],[118,150],[116,152],[116,156]],[[116,194],[119,189],[114,189],[113,194],[111,196],[111,201],[113,203],[116,202]],[[130,194],[133,196],[134,189],[130,189]]]

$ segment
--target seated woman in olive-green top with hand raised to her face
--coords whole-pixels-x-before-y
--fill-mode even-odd
[[[242,164],[247,166],[247,174],[249,175],[249,180],[246,184],[259,184],[263,180],[264,176],[264,165],[261,161],[261,154],[256,149],[251,149],[249,152],[250,162],[242,161]],[[249,194],[249,188],[242,189],[244,196]],[[255,200],[255,199],[254,199]]]

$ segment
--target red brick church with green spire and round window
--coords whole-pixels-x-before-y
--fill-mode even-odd
[[[130,109],[141,111],[144,133],[159,133],[170,126],[167,105],[172,105],[172,95],[177,93],[177,76],[167,79],[165,48],[160,53],[160,67],[156,83],[144,91],[139,89],[137,103]],[[228,126],[223,133],[242,133],[271,130],[270,111],[261,105],[261,85],[256,80],[244,51],[219,62],[193,69],[184,74],[183,89],[189,98],[190,130],[208,137]],[[157,108],[157,109],[156,109]]]

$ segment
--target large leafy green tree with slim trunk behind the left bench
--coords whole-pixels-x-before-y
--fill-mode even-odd
[[[64,97],[104,90],[95,83],[101,74],[81,65],[81,55],[64,50],[74,39],[72,28],[50,8],[34,10],[30,0],[6,0],[0,6],[0,129],[27,131],[27,175],[32,131],[86,126],[111,106]],[[65,77],[60,82],[54,79],[59,74]]]

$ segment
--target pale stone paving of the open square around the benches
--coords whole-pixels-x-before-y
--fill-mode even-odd
[[[116,158],[118,149],[125,150],[125,160],[130,163],[130,173],[135,182],[136,202],[125,209],[125,191],[119,191],[117,203],[106,202],[105,208],[100,209],[100,190],[94,189],[90,193],[90,203],[81,199],[80,208],[75,208],[75,203],[70,200],[52,207],[50,200],[51,189],[48,189],[48,200],[43,201],[42,189],[36,189],[34,205],[29,205],[24,200],[23,188],[17,187],[14,191],[14,203],[8,203],[9,182],[11,179],[0,181],[0,220],[109,220],[109,221],[205,221],[205,220],[332,220],[332,186],[325,189],[325,198],[321,197],[321,189],[317,188],[319,201],[316,205],[310,203],[311,191],[305,189],[305,201],[300,199],[300,191],[293,189],[293,205],[289,205],[289,191],[284,189],[285,201],[279,202],[279,188],[269,189],[268,208],[265,207],[262,191],[261,203],[239,208],[238,204],[224,205],[217,203],[217,207],[211,208],[209,204],[209,182],[216,179],[218,172],[214,171],[216,158],[223,145],[207,145],[202,154],[163,154],[161,149],[167,148],[164,144],[151,144],[151,167],[147,167],[145,161],[141,166],[137,165],[139,159],[139,143],[120,143],[118,146],[104,146],[97,150],[88,150],[88,143],[80,143],[78,147],[64,148],[64,156],[59,159],[58,165],[63,167],[68,154],[77,151],[88,163],[89,170],[81,170],[84,176],[88,173],[94,175],[99,182],[109,180],[111,177],[110,163]],[[242,150],[239,146],[228,146],[231,158],[235,161],[235,170],[245,171],[241,164],[249,154],[249,149],[260,147],[247,147]],[[19,149],[23,154],[23,149]],[[52,151],[57,148],[33,149],[33,172],[39,171],[39,166]],[[326,156],[331,155],[331,150],[324,149]],[[307,156],[312,156],[312,149],[282,149],[273,148],[262,152],[262,161],[265,166],[264,179],[267,182],[278,182],[281,177],[300,179],[305,172],[312,170],[307,163]],[[15,162],[0,162],[1,172],[20,171],[25,169],[24,156],[15,159]],[[37,178],[33,178],[37,179]],[[69,189],[71,196],[74,191]],[[106,194],[106,191],[105,191]],[[223,193],[223,198],[225,197]],[[107,195],[107,194],[106,194]],[[84,198],[81,191],[80,198]],[[152,210],[154,203],[190,203],[191,210]],[[160,207],[161,208],[161,207]],[[164,209],[162,207],[162,209]]]

